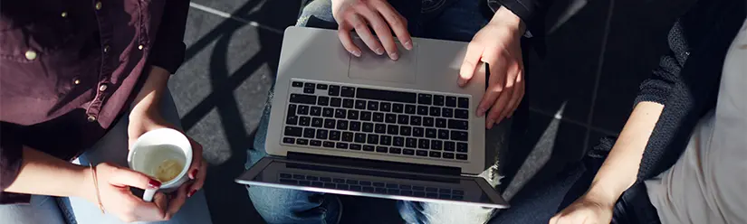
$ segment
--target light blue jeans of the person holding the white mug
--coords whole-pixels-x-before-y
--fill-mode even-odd
[[[168,122],[181,126],[177,107],[167,91],[161,99],[161,113]],[[103,162],[116,163],[127,167],[129,114],[104,135],[96,145],[78,157],[73,163],[81,165]],[[106,209],[106,208],[104,208]],[[119,224],[124,223],[111,214],[101,214],[99,207],[81,198],[59,198],[33,195],[30,204],[0,205],[0,219],[5,224]],[[197,191],[182,208],[168,221],[153,222],[168,224],[210,224],[210,212],[203,191]]]

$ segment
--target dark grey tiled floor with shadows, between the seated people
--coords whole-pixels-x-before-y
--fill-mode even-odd
[[[525,133],[503,155],[505,196],[535,173],[578,160],[600,137],[618,135],[638,83],[666,51],[666,31],[681,10],[656,9],[670,1],[556,1],[547,16],[550,33],[524,51],[530,112],[520,123]],[[205,189],[215,223],[263,223],[244,186],[233,179],[244,171],[245,150],[277,70],[283,29],[295,23],[300,5],[299,0],[192,1],[187,62],[169,89],[187,133],[206,146],[212,166]],[[365,208],[351,204],[343,223],[402,222],[392,201],[343,199],[352,200],[391,209],[370,219]]]

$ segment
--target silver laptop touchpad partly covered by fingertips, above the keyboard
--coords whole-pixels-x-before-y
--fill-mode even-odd
[[[361,51],[360,57],[350,56],[350,79],[368,79],[375,81],[390,81],[400,83],[415,83],[417,73],[417,44],[413,50],[407,51],[397,42],[399,59],[392,61],[387,53],[377,55],[369,47],[354,38]]]

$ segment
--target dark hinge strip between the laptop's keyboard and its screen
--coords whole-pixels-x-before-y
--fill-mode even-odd
[[[388,170],[407,173],[429,173],[439,175],[461,175],[462,169],[458,167],[426,165],[414,163],[398,163],[390,161],[350,158],[324,154],[305,154],[297,152],[288,152],[288,159],[298,161],[309,161],[313,163],[338,164],[345,166],[359,166],[363,168]]]

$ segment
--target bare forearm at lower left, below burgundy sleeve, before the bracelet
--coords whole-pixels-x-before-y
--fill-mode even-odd
[[[5,189],[7,192],[52,196],[78,196],[91,177],[88,167],[24,147],[23,163],[15,181]]]

